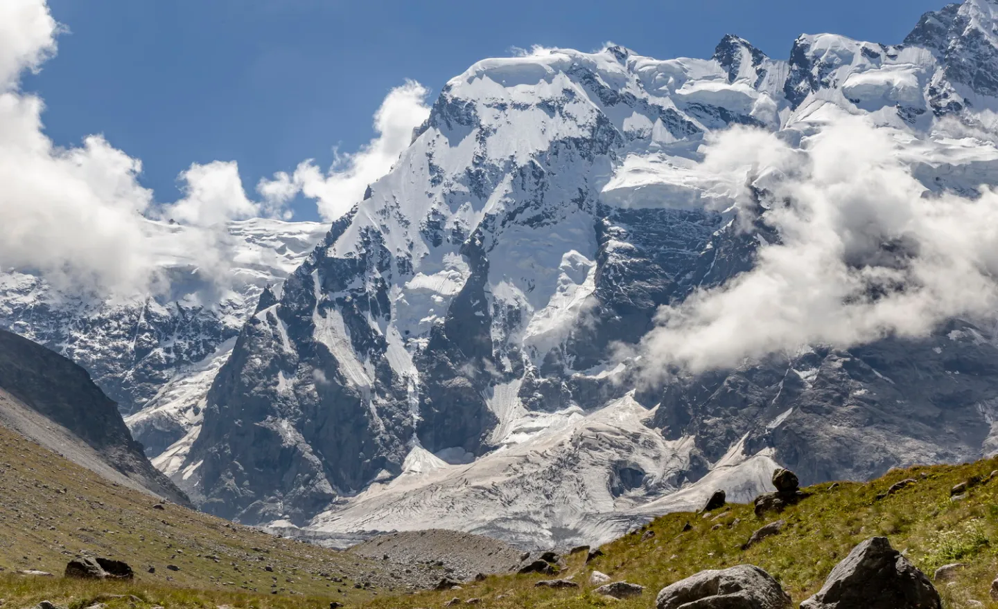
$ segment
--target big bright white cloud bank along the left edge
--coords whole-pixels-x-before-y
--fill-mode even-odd
[[[19,77],[55,53],[58,33],[45,0],[0,2],[0,269],[39,273],[61,288],[133,294],[168,287],[161,262],[179,257],[206,279],[227,281],[225,222],[283,215],[283,201],[266,193],[250,200],[236,163],[217,161],[192,165],[180,176],[184,197],[158,205],[139,183],[142,163],[102,137],[55,147],[42,101],[19,90]],[[188,226],[165,231],[150,218]]]

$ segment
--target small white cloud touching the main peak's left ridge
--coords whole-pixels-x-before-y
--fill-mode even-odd
[[[373,140],[357,152],[336,152],[328,171],[323,172],[308,159],[292,174],[276,173],[273,179],[257,184],[267,200],[290,200],[298,192],[316,200],[319,214],[326,220],[343,215],[363,198],[367,186],[387,173],[412,141],[412,131],[429,116],[429,92],[414,81],[392,89],[374,114]]]

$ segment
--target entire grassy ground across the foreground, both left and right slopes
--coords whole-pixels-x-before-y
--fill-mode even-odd
[[[371,609],[437,608],[455,596],[481,598],[481,607],[497,609],[609,604],[648,609],[658,590],[674,581],[702,569],[747,562],[772,573],[799,602],[821,586],[832,566],[856,543],[886,535],[929,574],[942,564],[969,563],[952,586],[939,586],[948,608],[965,606],[963,601],[973,598],[998,609],[998,603],[988,604],[990,583],[998,575],[998,476],[971,487],[962,501],[951,501],[949,493],[954,484],[973,476],[986,478],[996,468],[998,459],[986,459],[896,470],[867,484],[819,484],[808,488],[811,496],[798,505],[761,519],[750,505],[729,505],[706,518],[690,513],[663,516],[604,546],[606,555],[589,565],[582,554],[568,557],[560,576],[583,583],[579,590],[536,589],[534,583],[543,577],[525,575],[491,576],[459,591],[391,595],[384,584],[378,594],[352,588],[354,581],[366,578],[364,573],[378,569],[376,563],[272,538],[173,505],[154,510],[154,500],[146,495],[114,486],[0,429],[0,566],[8,572],[36,568],[59,573],[71,555],[88,549],[125,559],[138,571],[138,579],[126,584],[0,573],[0,598],[8,599],[6,606],[28,607],[45,598],[74,609],[102,593],[135,594],[140,599],[106,600],[109,609],[150,609],[157,604],[168,609],[217,605],[317,609],[327,607],[330,600]],[[892,483],[908,477],[918,481],[876,499]],[[59,492],[63,487],[66,493]],[[747,551],[741,549],[753,530],[779,518],[787,522],[780,534]],[[693,528],[684,532],[688,522]],[[643,540],[647,530],[654,535]],[[220,561],[210,555],[218,555]],[[167,571],[168,563],[179,565],[181,571]],[[149,564],[157,567],[155,574],[146,572]],[[264,571],[264,565],[272,565],[274,572]],[[643,584],[646,593],[625,601],[597,597],[585,583],[593,569],[615,580]],[[337,584],[319,572],[349,579]],[[267,593],[271,576],[277,578],[278,588],[284,588],[280,594]],[[379,576],[383,574],[371,578]],[[247,590],[240,587],[244,585]]]

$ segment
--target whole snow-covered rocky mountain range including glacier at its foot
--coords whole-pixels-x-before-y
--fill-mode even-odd
[[[929,194],[972,199],[998,185],[998,148],[973,136],[996,111],[996,0],[895,45],[801,36],[788,59],[735,36],[710,59],[489,59],[331,226],[232,223],[235,288],[190,297],[179,254],[172,293],[130,299],[11,271],[0,327],[87,369],[210,513],[330,544],[429,527],[600,543],[716,488],[749,501],[779,465],[812,484],[998,451],[990,325],[661,381],[625,348],[780,239],[766,176],[705,167],[712,135],[805,147],[862,116]]]

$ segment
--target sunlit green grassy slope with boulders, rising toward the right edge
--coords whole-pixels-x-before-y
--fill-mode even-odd
[[[952,586],[939,584],[946,607],[963,607],[976,599],[986,607],[988,590],[998,575],[998,476],[972,487],[966,499],[950,500],[950,488],[971,476],[986,477],[998,468],[998,459],[958,466],[920,466],[894,470],[867,484],[819,484],[813,494],[781,514],[756,518],[750,505],[729,505],[707,518],[675,513],[658,518],[647,529],[632,533],[602,549],[605,556],[589,565],[579,554],[568,557],[559,577],[572,576],[583,583],[580,590],[535,589],[542,576],[495,576],[465,586],[460,591],[374,599],[372,608],[441,607],[453,597],[482,599],[482,607],[582,608],[613,604],[621,607],[654,606],[663,587],[703,569],[740,563],[758,565],[775,576],[799,603],[816,592],[831,568],[857,543],[885,535],[930,577],[936,567],[967,562]],[[916,484],[882,500],[877,494],[892,483],[913,477]],[[724,515],[721,515],[724,513]],[[719,517],[720,516],[720,517]],[[783,531],[742,550],[752,531],[773,520],[787,522]],[[683,531],[690,523],[692,530]],[[719,525],[720,526],[717,526]],[[645,530],[654,536],[642,540]],[[646,587],[645,595],[632,600],[608,601],[591,594],[589,573],[599,570],[614,580]],[[497,599],[499,595],[504,598]]]

